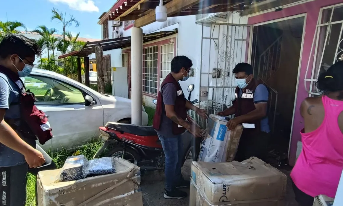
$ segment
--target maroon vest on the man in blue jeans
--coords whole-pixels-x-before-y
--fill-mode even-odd
[[[169,73],[167,77],[164,79],[164,81],[161,84],[160,90],[158,91],[157,96],[157,104],[156,104],[156,112],[154,115],[153,120],[153,127],[157,131],[159,130],[159,127],[161,126],[161,120],[162,120],[162,113],[165,114],[165,110],[163,109],[163,96],[161,94],[162,88],[167,83],[173,83],[176,88],[176,100],[174,105],[174,111],[179,116],[179,118],[186,121],[187,119],[187,109],[186,109],[186,99],[184,92],[182,92],[182,88],[180,84],[174,79],[174,77]],[[173,127],[173,134],[179,135],[186,131],[186,129],[175,122],[172,123]]]

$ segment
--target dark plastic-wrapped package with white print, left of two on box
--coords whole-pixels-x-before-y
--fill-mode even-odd
[[[59,181],[72,181],[83,179],[87,176],[87,166],[89,162],[84,155],[68,157],[62,167],[58,178]]]

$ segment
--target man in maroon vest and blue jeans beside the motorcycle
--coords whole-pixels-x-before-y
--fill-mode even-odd
[[[200,137],[202,129],[186,122],[187,110],[194,110],[207,118],[205,110],[199,109],[185,99],[178,83],[180,80],[188,79],[192,65],[192,61],[186,56],[174,57],[171,61],[171,73],[162,82],[157,97],[153,127],[161,140],[165,154],[166,191],[164,198],[166,199],[186,197],[187,193],[178,188],[190,186],[190,182],[184,180],[181,175],[182,156],[184,155],[181,134],[187,129],[194,136]]]

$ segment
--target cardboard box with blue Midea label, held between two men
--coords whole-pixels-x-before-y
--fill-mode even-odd
[[[198,161],[232,162],[234,160],[243,126],[237,125],[234,131],[228,131],[226,123],[225,117],[210,115]]]

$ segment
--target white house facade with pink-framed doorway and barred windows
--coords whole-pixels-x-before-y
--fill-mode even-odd
[[[299,131],[304,127],[300,104],[308,96],[319,95],[315,86],[319,73],[343,59],[343,0],[280,2],[260,7],[257,3],[242,12],[168,17],[166,22],[143,26],[145,34],[177,30],[172,36],[143,44],[144,104],[153,106],[152,100],[170,72],[171,59],[185,55],[193,67],[189,80],[180,83],[182,88],[186,92],[187,85],[194,84],[191,100],[200,100],[200,107],[216,113],[232,105],[235,65],[250,63],[254,77],[269,89],[275,149],[294,165],[301,151]],[[130,36],[133,27],[133,21],[106,17],[100,18],[99,24],[103,39]],[[112,67],[128,68],[123,78],[128,79],[129,90],[130,49],[104,52]]]

